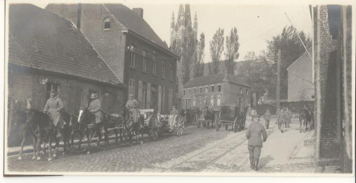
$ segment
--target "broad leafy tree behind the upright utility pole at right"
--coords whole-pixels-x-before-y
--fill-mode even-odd
[[[293,26],[285,26],[281,34],[278,34],[277,36],[274,36],[272,40],[267,41],[267,49],[264,57],[270,64],[273,65],[271,68],[274,72],[277,72],[278,49],[281,49],[281,99],[286,99],[288,95],[288,66],[306,51],[303,44],[299,40],[298,35],[301,37],[305,46],[309,49],[312,43],[310,36],[306,35],[303,30],[296,30]]]

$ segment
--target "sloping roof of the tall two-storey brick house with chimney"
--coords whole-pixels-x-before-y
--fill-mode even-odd
[[[168,46],[159,38],[151,26],[141,18],[136,12],[123,4],[104,4],[108,11],[123,24],[127,29],[143,36],[145,39],[152,41],[156,45],[171,52]]]

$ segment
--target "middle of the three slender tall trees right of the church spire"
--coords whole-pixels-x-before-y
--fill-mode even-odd
[[[209,63],[209,72],[211,75],[219,73],[220,57],[224,51],[224,29],[220,28],[213,36],[210,42],[210,56],[212,61]]]

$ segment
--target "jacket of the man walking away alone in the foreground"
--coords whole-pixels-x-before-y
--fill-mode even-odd
[[[266,141],[267,133],[261,124],[253,122],[246,131],[246,138],[248,139],[247,145],[262,147],[262,138]]]

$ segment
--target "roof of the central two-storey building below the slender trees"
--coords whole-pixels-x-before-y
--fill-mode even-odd
[[[219,82],[223,82],[224,78],[225,78],[225,74],[217,74],[217,75],[209,75],[209,76],[193,78],[187,84],[184,85],[184,88],[219,83]],[[243,81],[242,79],[240,79],[238,76],[235,75],[227,74],[227,81],[230,83],[235,83],[235,84],[250,87],[250,85],[248,85],[245,81]]]

